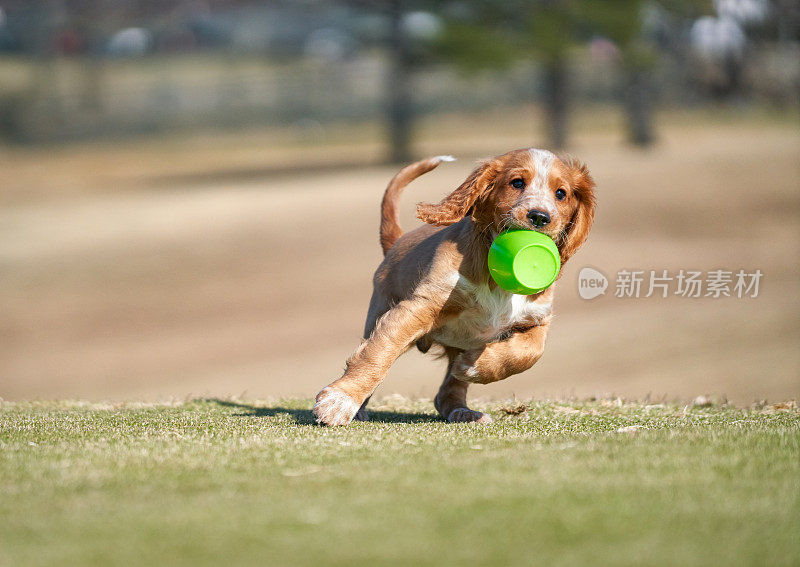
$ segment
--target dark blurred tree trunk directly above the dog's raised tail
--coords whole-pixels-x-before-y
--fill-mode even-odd
[[[389,70],[387,81],[389,120],[389,159],[393,163],[411,161],[411,57],[403,30],[403,1],[389,2]]]

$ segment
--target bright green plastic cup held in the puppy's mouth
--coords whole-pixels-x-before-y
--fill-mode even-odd
[[[501,233],[489,248],[489,273],[506,291],[531,295],[553,285],[561,256],[553,239],[534,230]]]

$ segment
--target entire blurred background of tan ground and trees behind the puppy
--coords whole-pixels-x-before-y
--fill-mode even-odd
[[[531,146],[588,163],[597,220],[542,361],[472,395],[797,397],[798,94],[793,0],[0,0],[0,397],[311,397],[399,164],[459,158],[411,229]],[[618,298],[623,269],[764,275]],[[378,395],[443,373],[409,352]]]

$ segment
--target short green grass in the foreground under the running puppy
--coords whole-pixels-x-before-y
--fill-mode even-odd
[[[309,408],[0,403],[0,564],[800,562],[791,405]]]

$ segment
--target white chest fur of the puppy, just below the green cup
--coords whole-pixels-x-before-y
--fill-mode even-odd
[[[459,277],[455,291],[463,297],[464,309],[431,335],[445,345],[471,349],[496,340],[514,325],[537,324],[550,314],[551,303],[509,293],[486,284],[476,285]]]

